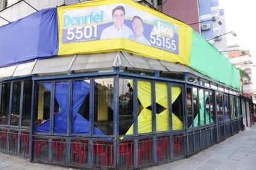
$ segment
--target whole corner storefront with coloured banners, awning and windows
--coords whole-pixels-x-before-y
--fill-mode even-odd
[[[104,39],[104,31],[100,39],[80,40],[83,27],[73,31],[79,21],[86,23],[90,17],[91,24],[104,23],[105,8],[78,18],[81,9],[98,8],[98,3],[115,7],[113,16],[115,10],[134,7],[170,20],[165,26],[173,35],[162,38],[166,48],[153,46],[159,37],[152,38],[152,32],[150,45],[124,37]],[[128,15],[125,24],[139,21]],[[2,152],[33,162],[136,169],[182,159],[243,129],[249,99],[240,96],[238,71],[184,23],[126,0],[47,9],[16,24],[24,26],[22,21],[32,18],[39,18],[45,35],[31,31],[38,35],[37,50],[8,50],[9,58],[2,59]],[[0,33],[11,26],[0,28]],[[38,25],[33,26],[37,30]],[[99,37],[90,33],[97,26],[102,25],[85,26],[89,32],[83,34]],[[220,69],[214,69],[217,62]]]

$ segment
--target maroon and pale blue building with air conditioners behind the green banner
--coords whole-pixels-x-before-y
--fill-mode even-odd
[[[188,25],[197,23],[190,26],[206,40],[226,33],[224,9],[219,9],[218,0],[168,0],[163,4],[163,13],[184,21]],[[202,23],[198,24],[198,22]],[[209,42],[219,51],[227,50],[226,36]]]

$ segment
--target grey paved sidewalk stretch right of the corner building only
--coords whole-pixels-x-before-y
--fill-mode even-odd
[[[255,170],[256,126],[246,128],[233,137],[180,161],[149,167],[145,170]]]

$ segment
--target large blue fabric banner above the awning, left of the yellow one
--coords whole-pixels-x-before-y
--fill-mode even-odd
[[[57,55],[57,9],[43,9],[0,27],[0,67]]]

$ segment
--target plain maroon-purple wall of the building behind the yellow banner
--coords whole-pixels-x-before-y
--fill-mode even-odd
[[[163,5],[163,13],[187,24],[199,22],[198,11],[197,0],[166,0]],[[200,33],[199,24],[191,25],[191,27]]]

